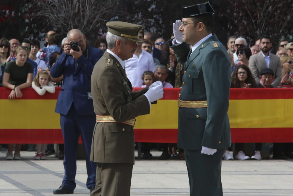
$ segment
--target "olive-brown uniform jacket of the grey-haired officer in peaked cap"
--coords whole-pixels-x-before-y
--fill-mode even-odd
[[[91,93],[96,115],[111,115],[116,123],[96,123],[91,161],[134,164],[133,126],[122,124],[149,114],[148,88],[132,93],[132,86],[119,61],[105,52],[93,68]]]

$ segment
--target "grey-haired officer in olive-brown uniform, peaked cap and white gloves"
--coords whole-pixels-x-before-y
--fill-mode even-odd
[[[108,22],[108,49],[96,63],[91,75],[91,92],[96,113],[91,161],[97,163],[96,189],[91,195],[130,195],[134,164],[135,117],[149,114],[151,102],[163,97],[163,85],[132,93],[125,60],[137,49],[141,25]]]

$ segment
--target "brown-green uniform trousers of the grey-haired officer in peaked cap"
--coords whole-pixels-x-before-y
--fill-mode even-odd
[[[90,196],[129,196],[133,164],[97,163],[96,188]]]

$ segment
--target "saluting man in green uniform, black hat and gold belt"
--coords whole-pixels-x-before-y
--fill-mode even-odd
[[[178,99],[178,148],[184,149],[190,195],[198,196],[223,195],[221,159],[231,145],[231,61],[211,33],[213,14],[209,2],[184,7],[182,21],[173,24],[175,38],[168,42],[185,68]]]

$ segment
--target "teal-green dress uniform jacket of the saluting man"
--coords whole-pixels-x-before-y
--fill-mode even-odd
[[[189,58],[191,50],[187,43],[173,46],[170,40],[169,46],[185,68],[179,99],[207,100],[207,108],[179,108],[178,148],[201,150],[202,146],[213,149],[230,147],[227,111],[231,61],[226,49],[216,35],[200,43]]]

